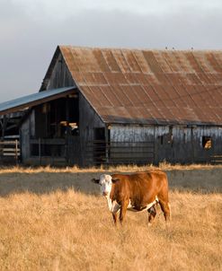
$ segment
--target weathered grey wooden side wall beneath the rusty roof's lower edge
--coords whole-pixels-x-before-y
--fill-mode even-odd
[[[222,127],[139,127],[139,126],[111,126],[111,146],[114,147],[120,142],[129,142],[134,146],[131,152],[121,155],[126,161],[129,157],[138,160],[138,153],[141,159],[147,162],[211,162],[215,155],[222,154]],[[203,136],[211,138],[211,148],[203,147]],[[141,150],[141,142],[149,142],[150,147],[145,145]],[[152,142],[154,147],[152,149]],[[122,152],[124,151],[124,144]],[[138,145],[138,148],[136,147]],[[119,144],[120,146],[120,144]],[[129,148],[128,148],[129,150]],[[153,156],[152,154],[153,150]],[[119,149],[121,152],[121,150]],[[117,156],[115,152],[111,155]],[[120,156],[120,154],[119,154]],[[151,159],[152,158],[152,159]]]

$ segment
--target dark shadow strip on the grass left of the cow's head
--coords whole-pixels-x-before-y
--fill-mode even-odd
[[[54,191],[75,191],[89,195],[99,195],[100,188],[91,179],[98,177],[98,173],[2,173],[0,174],[0,197],[11,194],[30,192],[37,195],[49,194]]]

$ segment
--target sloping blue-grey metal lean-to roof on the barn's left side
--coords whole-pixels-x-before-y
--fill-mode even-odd
[[[75,91],[74,87],[66,87],[49,90],[46,92],[37,92],[12,101],[5,101],[3,103],[0,103],[0,115],[13,113],[20,109],[25,109],[27,107],[38,105],[42,102],[52,101],[64,97],[67,94],[72,93],[74,91]]]

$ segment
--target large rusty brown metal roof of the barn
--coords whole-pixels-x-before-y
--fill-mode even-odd
[[[58,49],[106,123],[222,125],[222,51]]]

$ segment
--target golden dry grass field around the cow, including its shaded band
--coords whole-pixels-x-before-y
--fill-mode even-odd
[[[222,167],[163,165],[172,222],[158,209],[114,227],[90,179],[121,167],[0,170],[0,270],[222,270]]]

